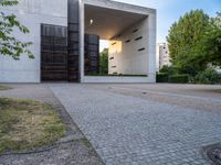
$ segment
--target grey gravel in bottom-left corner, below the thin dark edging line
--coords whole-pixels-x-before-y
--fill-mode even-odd
[[[102,163],[84,143],[73,141],[35,154],[1,156],[0,165],[102,165]]]

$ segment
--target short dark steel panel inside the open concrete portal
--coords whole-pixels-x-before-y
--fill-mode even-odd
[[[85,75],[99,73],[99,36],[85,34]]]

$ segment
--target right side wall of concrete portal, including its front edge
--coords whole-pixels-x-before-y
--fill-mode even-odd
[[[156,82],[156,16],[149,13],[109,42],[109,74],[147,75]]]

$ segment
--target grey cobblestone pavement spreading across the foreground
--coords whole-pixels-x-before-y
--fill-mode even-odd
[[[188,107],[162,99],[180,97],[186,102],[188,94],[151,99],[133,95],[139,85],[125,85],[130,91],[124,89],[124,94],[122,85],[50,87],[107,165],[207,165],[202,146],[221,142],[219,110],[208,111],[208,107]],[[150,89],[144,94],[150,95]],[[159,92],[151,95],[159,96]],[[191,96],[198,103],[206,101],[199,94]],[[211,100],[212,94],[207,97],[214,103],[213,108],[221,102],[219,94]]]

